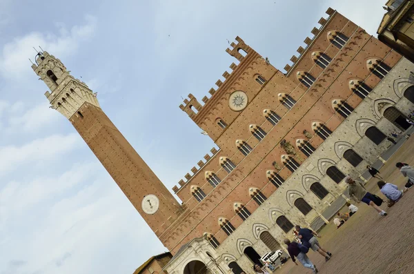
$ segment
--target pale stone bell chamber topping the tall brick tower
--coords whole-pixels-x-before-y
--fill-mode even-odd
[[[39,80],[50,89],[45,93],[50,108],[70,119],[72,115],[79,114],[79,108],[85,103],[100,107],[96,93],[93,93],[85,83],[70,75],[70,71],[59,59],[43,51],[37,53],[35,61],[32,69],[39,75]]]

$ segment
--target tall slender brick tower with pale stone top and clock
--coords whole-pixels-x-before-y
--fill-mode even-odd
[[[182,208],[99,106],[96,94],[63,63],[39,52],[34,72],[50,88],[50,108],[69,119],[119,188],[159,237]]]

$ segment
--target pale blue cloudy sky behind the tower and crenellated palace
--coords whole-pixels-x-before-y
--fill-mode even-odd
[[[331,6],[375,35],[375,0],[0,0],[0,274],[132,273],[166,251],[32,72],[48,50],[168,189],[214,146],[178,106],[235,61],[238,35],[284,71]],[[223,79],[222,79],[223,80]]]

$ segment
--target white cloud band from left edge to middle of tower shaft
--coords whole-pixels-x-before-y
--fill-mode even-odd
[[[0,147],[0,177],[4,173],[19,168],[23,163],[49,165],[50,160],[67,153],[80,144],[77,134],[52,135],[34,139],[23,146]]]

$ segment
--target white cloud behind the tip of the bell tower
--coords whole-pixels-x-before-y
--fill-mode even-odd
[[[59,26],[59,35],[53,33],[30,32],[23,37],[17,37],[3,46],[0,57],[0,73],[5,78],[21,77],[22,72],[28,72],[30,66],[28,58],[34,61],[32,46],[41,46],[43,50],[53,52],[54,55],[64,57],[77,50],[79,43],[89,39],[97,27],[97,18],[86,16],[86,23],[82,26],[73,26],[68,30]]]

